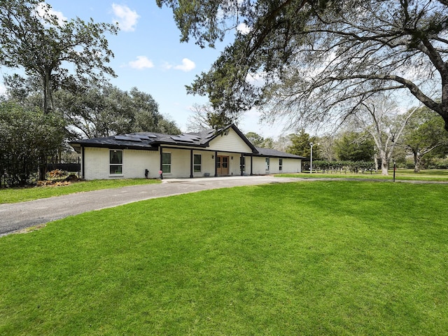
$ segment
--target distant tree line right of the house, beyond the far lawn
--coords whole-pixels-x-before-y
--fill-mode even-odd
[[[246,137],[260,147],[308,159],[312,142],[313,167],[325,171],[374,169],[381,170],[383,174],[385,170],[387,174],[391,162],[412,167],[415,172],[424,167],[448,167],[448,134],[442,118],[433,111],[424,106],[401,114],[386,109],[388,116],[385,116],[378,111],[381,104],[370,106],[370,109],[375,109],[374,118],[371,118],[374,122],[350,120],[339,132],[332,134],[311,136],[301,129],[278,140],[264,139],[254,132],[246,133]],[[376,141],[372,134],[377,136]],[[309,165],[306,168],[309,169]]]

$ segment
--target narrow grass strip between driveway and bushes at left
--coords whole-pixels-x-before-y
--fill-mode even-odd
[[[68,186],[42,186],[34,188],[0,189],[1,203],[17,203],[62,196],[83,191],[137,186],[139,184],[160,183],[155,179],[113,179],[72,182]]]

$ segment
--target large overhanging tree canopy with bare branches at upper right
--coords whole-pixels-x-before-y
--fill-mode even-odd
[[[405,90],[448,130],[446,0],[156,2],[172,8],[181,41],[213,47],[236,31],[188,87],[216,111],[267,106],[273,118],[323,123],[344,120],[372,92]]]

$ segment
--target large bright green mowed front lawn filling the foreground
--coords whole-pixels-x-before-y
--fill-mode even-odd
[[[448,186],[315,181],[0,238],[0,335],[447,335]]]

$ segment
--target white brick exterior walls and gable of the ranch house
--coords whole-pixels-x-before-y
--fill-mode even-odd
[[[164,173],[166,178],[188,178],[190,177],[190,148],[163,147],[164,153],[171,153],[171,172]],[[252,153],[251,148],[239,137],[235,130],[230,129],[228,135],[218,136],[211,141],[206,151],[193,149],[193,154],[202,157],[202,171],[193,172],[193,177],[215,175],[215,155],[228,156],[229,175],[239,176],[241,168],[239,160],[241,153]],[[145,177],[145,169],[148,169],[148,177],[158,178],[160,171],[160,151],[137,151],[123,150],[123,174],[114,175],[110,173],[109,148],[84,148],[84,177],[93,179],[136,179]],[[213,157],[213,158],[212,158]],[[244,174],[251,174],[251,158],[246,156],[246,169]],[[253,157],[254,175],[297,173],[301,170],[301,160],[283,158],[283,169],[279,170],[279,158],[269,158],[269,172],[266,171],[266,158]]]

